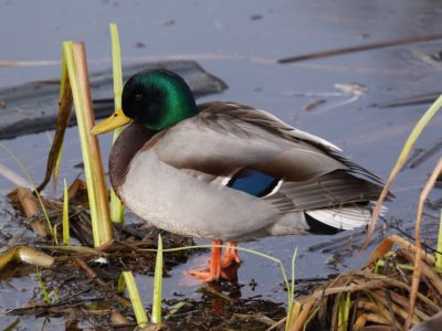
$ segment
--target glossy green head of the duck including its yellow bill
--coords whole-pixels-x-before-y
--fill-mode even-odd
[[[130,121],[159,131],[197,114],[193,94],[185,79],[166,70],[131,76],[123,88],[122,106],[92,132],[104,134]]]

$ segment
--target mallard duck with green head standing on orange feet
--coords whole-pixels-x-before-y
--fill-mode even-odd
[[[217,280],[240,261],[240,241],[332,234],[366,225],[382,181],[332,142],[238,103],[196,104],[186,82],[166,70],[140,72],[123,90],[123,109],[94,127],[130,124],[115,141],[109,178],[123,203],[159,228],[213,247]]]

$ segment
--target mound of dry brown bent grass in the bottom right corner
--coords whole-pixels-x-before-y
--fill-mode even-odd
[[[392,253],[390,248],[393,244],[399,248]],[[415,300],[411,302],[417,256],[420,256],[422,273]],[[293,312],[294,323],[290,330],[338,330],[339,300],[347,293],[350,293],[348,330],[373,324],[408,330],[410,311],[412,325],[442,309],[442,278],[434,271],[434,257],[393,235],[379,245],[362,269],[340,275],[312,295],[297,298],[297,305],[293,306],[296,309]]]

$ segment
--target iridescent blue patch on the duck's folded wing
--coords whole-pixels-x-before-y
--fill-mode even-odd
[[[255,196],[264,196],[277,185],[278,179],[254,169],[242,169],[229,181],[228,186]]]

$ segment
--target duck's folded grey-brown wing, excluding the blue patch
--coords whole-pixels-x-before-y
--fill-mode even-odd
[[[328,141],[234,103],[202,104],[196,117],[169,128],[146,148],[182,171],[223,178],[212,183],[225,183],[246,168],[282,179],[277,192],[262,197],[282,213],[366,202],[381,190],[380,178],[347,160]]]

